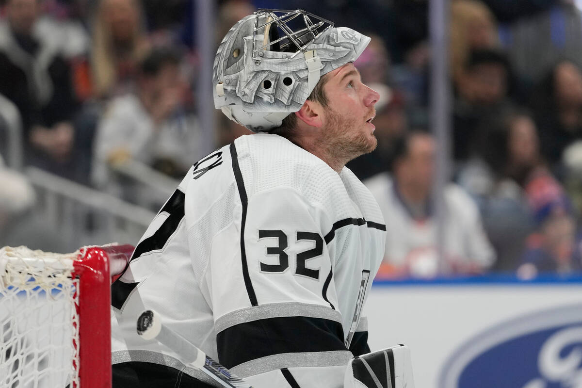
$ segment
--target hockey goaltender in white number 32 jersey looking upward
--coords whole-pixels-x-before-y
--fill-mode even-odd
[[[193,165],[113,284],[114,387],[244,386],[196,348],[255,388],[413,387],[407,347],[370,353],[362,312],[386,233],[345,167],[377,143],[353,65],[369,41],[303,10],[228,31],[214,103],[255,133]],[[143,311],[164,336],[137,334]]]

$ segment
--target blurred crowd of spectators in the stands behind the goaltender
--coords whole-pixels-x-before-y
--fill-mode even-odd
[[[582,270],[581,4],[450,0],[452,175],[443,193],[432,190],[428,0],[218,1],[208,39],[218,47],[257,8],[304,8],[370,36],[355,65],[381,95],[378,147],[348,167],[385,216],[381,272],[532,277]],[[180,179],[210,151],[196,100],[212,95],[194,93],[195,5],[0,1],[0,246],[22,243],[13,225],[35,201],[22,166],[157,211],[159,198],[128,171]],[[218,113],[216,122],[215,147],[250,133]]]

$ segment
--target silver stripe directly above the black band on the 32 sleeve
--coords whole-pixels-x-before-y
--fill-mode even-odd
[[[214,323],[217,333],[239,323],[258,321],[259,319],[278,318],[281,316],[307,316],[324,318],[342,323],[342,314],[329,306],[299,302],[269,303],[243,308],[223,315]]]

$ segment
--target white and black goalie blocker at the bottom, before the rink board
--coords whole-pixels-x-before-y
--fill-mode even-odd
[[[409,348],[400,344],[350,359],[343,387],[414,388]]]

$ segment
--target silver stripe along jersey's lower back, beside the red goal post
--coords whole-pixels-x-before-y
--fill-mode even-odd
[[[122,362],[151,362],[152,364],[165,365],[174,368],[179,372],[184,372],[201,382],[215,385],[213,380],[200,369],[184,365],[178,359],[162,353],[151,350],[118,350],[111,353],[111,364],[120,364]]]

